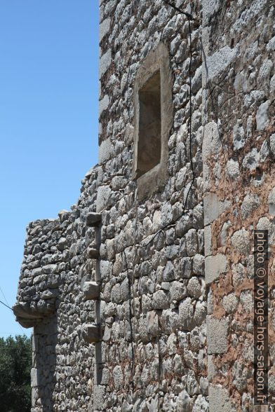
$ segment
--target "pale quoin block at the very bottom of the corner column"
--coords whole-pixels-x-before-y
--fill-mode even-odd
[[[236,408],[222,385],[209,385],[209,412],[234,412]]]

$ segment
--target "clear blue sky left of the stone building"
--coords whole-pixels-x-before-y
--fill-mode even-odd
[[[13,305],[25,227],[69,209],[97,163],[98,0],[1,0],[0,56],[0,287]],[[23,333],[3,305],[0,317],[0,336]]]

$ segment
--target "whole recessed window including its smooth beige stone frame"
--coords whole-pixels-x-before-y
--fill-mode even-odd
[[[134,89],[133,179],[138,197],[161,191],[168,177],[168,137],[173,120],[168,49],[160,43],[137,71]]]

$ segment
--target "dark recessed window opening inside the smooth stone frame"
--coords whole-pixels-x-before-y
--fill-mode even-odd
[[[136,177],[161,161],[161,71],[156,71],[140,88],[139,132]]]

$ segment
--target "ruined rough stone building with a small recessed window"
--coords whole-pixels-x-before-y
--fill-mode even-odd
[[[32,412],[255,410],[256,229],[274,410],[274,0],[170,2],[100,0],[98,165],[27,227],[13,308]]]

